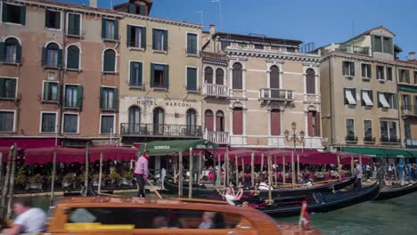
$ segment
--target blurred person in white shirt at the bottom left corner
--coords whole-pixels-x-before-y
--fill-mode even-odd
[[[12,228],[4,229],[1,233],[14,235],[45,231],[46,214],[42,209],[32,207],[31,199],[15,199],[13,211],[17,217],[14,219]]]

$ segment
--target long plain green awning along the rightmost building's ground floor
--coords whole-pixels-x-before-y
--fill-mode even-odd
[[[361,147],[342,147],[342,151],[364,154],[374,158],[416,158],[415,155],[408,150],[402,149],[379,149],[379,148],[361,148]]]

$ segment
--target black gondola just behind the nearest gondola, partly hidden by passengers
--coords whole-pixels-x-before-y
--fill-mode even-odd
[[[326,183],[323,185],[317,185],[307,188],[295,188],[295,189],[274,189],[272,190],[272,197],[289,197],[289,196],[303,196],[312,192],[328,192],[334,190],[341,190],[346,188],[349,185],[352,185],[356,182],[356,176],[352,176],[341,181]],[[178,184],[173,182],[170,178],[165,178],[164,187],[172,193],[178,191]],[[243,191],[245,194],[250,192],[249,189]],[[188,194],[188,183],[183,185],[183,193]],[[192,184],[192,195],[197,197],[212,197],[214,194],[217,194],[216,190],[208,189],[204,184]],[[261,198],[267,197],[267,191],[259,192]]]

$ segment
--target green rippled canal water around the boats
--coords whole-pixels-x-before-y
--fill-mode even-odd
[[[47,210],[49,198],[35,198],[34,204]],[[330,213],[310,214],[310,220],[313,227],[328,235],[417,234],[417,192],[397,199],[364,202]],[[298,223],[298,217],[277,221]]]

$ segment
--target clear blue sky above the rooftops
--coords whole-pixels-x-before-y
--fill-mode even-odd
[[[97,1],[102,8],[127,2]],[[298,39],[315,47],[384,26],[396,34],[394,43],[403,49],[401,59],[417,51],[416,0],[153,0],[151,16],[200,24],[200,12],[204,30],[215,24],[225,32]]]

